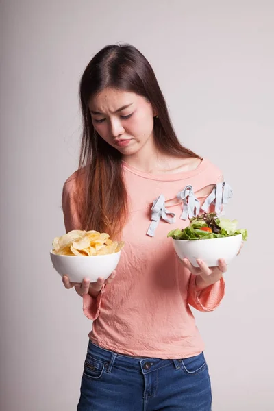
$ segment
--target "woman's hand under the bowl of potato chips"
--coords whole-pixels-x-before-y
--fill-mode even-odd
[[[99,293],[101,292],[104,284],[110,284],[112,280],[114,279],[116,274],[116,271],[113,271],[113,273],[108,277],[107,279],[103,279],[102,277],[99,277],[97,279],[97,282],[90,282],[88,278],[84,278],[82,283],[75,283],[75,282],[70,282],[69,281],[69,276],[68,275],[63,275],[62,281],[64,286],[69,290],[69,288],[75,288],[75,291],[80,297],[83,297],[85,294],[91,295],[91,297],[96,298]]]

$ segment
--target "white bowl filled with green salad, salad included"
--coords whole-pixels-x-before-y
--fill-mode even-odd
[[[218,266],[224,258],[229,264],[238,254],[243,241],[247,240],[247,230],[238,229],[237,220],[223,219],[216,213],[204,213],[190,219],[184,229],[174,229],[168,237],[181,260],[188,258],[198,267],[197,258],[208,266]]]

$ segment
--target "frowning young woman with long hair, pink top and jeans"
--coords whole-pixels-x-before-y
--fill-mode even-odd
[[[198,260],[199,269],[179,262],[167,233],[188,225],[190,197],[202,206],[222,173],[179,143],[153,69],[131,45],[99,51],[79,92],[82,149],[64,184],[66,232],[107,232],[125,248],[105,283],[63,277],[93,321],[77,410],[209,411],[208,365],[190,306],[219,306],[225,261],[210,268]]]

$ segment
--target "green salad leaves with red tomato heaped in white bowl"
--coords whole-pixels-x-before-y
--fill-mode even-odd
[[[206,240],[242,234],[242,240],[247,240],[247,230],[237,229],[238,221],[218,217],[216,213],[204,213],[190,219],[190,225],[185,229],[173,229],[168,237],[174,240]]]

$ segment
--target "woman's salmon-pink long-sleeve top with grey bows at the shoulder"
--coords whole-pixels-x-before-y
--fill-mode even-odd
[[[195,275],[179,262],[167,234],[188,225],[190,197],[201,206],[210,193],[214,199],[212,192],[223,182],[222,173],[205,158],[197,169],[177,174],[144,173],[125,162],[123,171],[129,195],[125,247],[112,284],[95,299],[83,297],[84,314],[93,321],[88,335],[99,347],[129,356],[195,356],[204,345],[190,306],[202,312],[214,310],[223,299],[225,284],[221,279],[197,292]],[[66,232],[82,229],[74,194],[75,173],[62,193]]]

